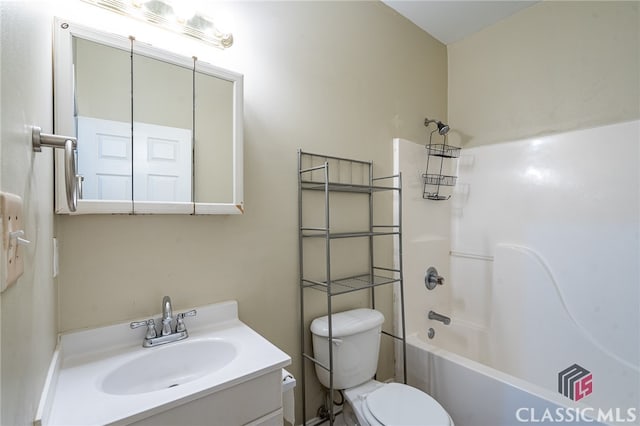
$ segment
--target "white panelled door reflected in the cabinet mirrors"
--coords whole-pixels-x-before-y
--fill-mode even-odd
[[[191,201],[190,129],[136,122],[133,155],[129,123],[78,117],[78,138],[80,198]]]

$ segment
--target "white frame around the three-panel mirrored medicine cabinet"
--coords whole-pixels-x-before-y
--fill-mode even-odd
[[[56,134],[74,135],[74,69],[73,37],[78,37],[129,51],[129,37],[97,31],[63,18],[54,19],[54,126]],[[180,56],[139,42],[135,52],[193,69],[193,57]],[[55,153],[55,212],[58,214],[242,214],[243,191],[243,75],[197,61],[196,71],[213,75],[233,83],[233,200],[228,203],[163,202],[135,200],[78,199],[75,212],[69,211],[65,198],[64,156]],[[81,144],[82,141],[78,141]],[[193,173],[192,173],[193,175]]]

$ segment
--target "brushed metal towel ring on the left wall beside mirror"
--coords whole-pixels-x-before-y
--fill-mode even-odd
[[[64,180],[69,211],[75,212],[78,205],[78,176],[76,174],[76,150],[78,141],[71,136],[58,136],[41,133],[40,127],[33,126],[31,144],[35,152],[41,152],[43,146],[64,149]]]

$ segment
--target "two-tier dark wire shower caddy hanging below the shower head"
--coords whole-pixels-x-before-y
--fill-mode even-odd
[[[427,167],[422,174],[422,182],[424,184],[422,198],[438,201],[448,200],[451,195],[441,194],[441,188],[454,186],[458,177],[443,173],[444,160],[460,157],[460,148],[447,143],[448,125],[441,121],[424,119],[426,127],[429,127],[431,123],[436,123],[437,128],[429,134],[429,143],[425,146],[427,149]],[[435,139],[434,133],[437,133]],[[442,142],[440,143],[438,143],[439,136],[442,136]],[[439,157],[440,161],[432,160],[432,157]]]

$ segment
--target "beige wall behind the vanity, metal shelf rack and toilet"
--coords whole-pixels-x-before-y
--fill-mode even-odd
[[[421,141],[425,116],[446,117],[446,48],[379,2],[212,7],[233,23],[235,44],[198,58],[244,74],[246,213],[58,217],[60,329],[156,314],[164,294],[176,310],[236,299],[299,375],[297,149],[391,174],[392,138]],[[390,209],[379,216],[390,222]],[[323,294],[309,298],[309,317],[319,315]],[[319,404],[316,395],[311,416]]]

